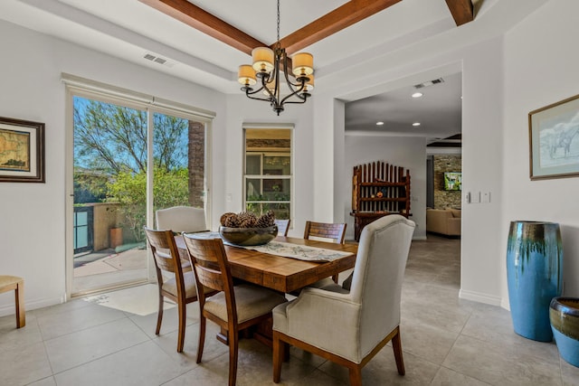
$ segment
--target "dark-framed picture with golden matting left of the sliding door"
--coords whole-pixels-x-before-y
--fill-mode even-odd
[[[44,124],[0,117],[0,182],[44,182]]]

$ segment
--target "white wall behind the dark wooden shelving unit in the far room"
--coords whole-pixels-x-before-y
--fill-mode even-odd
[[[352,212],[352,171],[354,166],[369,162],[384,161],[390,165],[403,166],[410,170],[411,201],[410,220],[416,222],[414,240],[426,239],[426,140],[423,137],[376,137],[346,136],[346,161],[344,174],[347,174],[344,201],[339,203],[346,219],[346,238],[354,239],[354,218]]]

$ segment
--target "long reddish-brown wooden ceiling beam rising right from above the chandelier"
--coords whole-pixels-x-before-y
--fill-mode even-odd
[[[399,1],[401,0],[351,0],[282,38],[280,40],[281,47],[285,48],[289,54],[298,52],[333,33],[383,11]]]

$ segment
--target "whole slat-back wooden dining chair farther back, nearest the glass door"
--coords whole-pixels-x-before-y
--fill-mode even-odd
[[[173,231],[156,231],[145,227],[145,233],[153,253],[157,272],[159,309],[155,334],[158,335],[161,330],[163,303],[166,297],[173,300],[177,305],[179,315],[177,353],[182,353],[185,344],[186,305],[197,300],[195,275],[191,269],[188,272],[184,272]]]

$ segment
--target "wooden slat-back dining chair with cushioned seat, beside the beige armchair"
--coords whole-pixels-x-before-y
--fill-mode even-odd
[[[286,302],[281,294],[265,287],[240,284],[233,287],[233,278],[221,239],[195,239],[195,234],[185,234],[185,245],[189,251],[195,279],[199,283],[199,345],[197,363],[201,362],[204,350],[206,319],[227,331],[229,344],[229,385],[237,377],[237,353],[239,332],[271,319],[271,309]],[[218,292],[206,297],[204,287]]]

